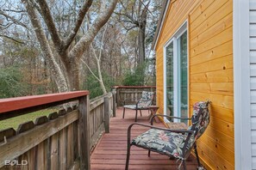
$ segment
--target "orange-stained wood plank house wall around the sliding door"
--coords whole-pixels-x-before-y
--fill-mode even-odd
[[[157,105],[164,112],[164,45],[184,21],[189,33],[189,103],[211,100],[198,151],[209,169],[234,169],[233,1],[171,1],[156,45]],[[256,67],[255,67],[256,68]]]

